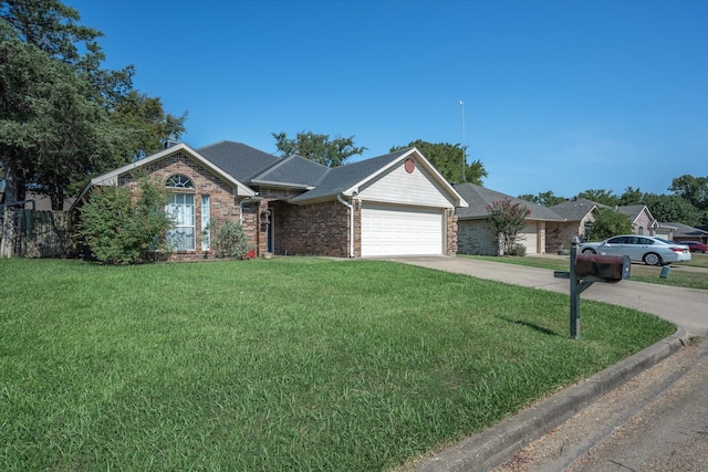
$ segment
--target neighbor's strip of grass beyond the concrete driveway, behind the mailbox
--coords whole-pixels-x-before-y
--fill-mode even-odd
[[[553,271],[568,271],[570,269],[570,258],[558,256],[533,256],[524,258],[497,258],[489,255],[461,255],[458,258],[479,259],[491,262],[502,262],[508,264],[528,265],[533,268],[549,269]],[[685,269],[686,268],[686,269]],[[631,280],[635,282],[646,282],[662,285],[680,286],[686,289],[708,290],[708,254],[691,254],[689,262],[671,264],[671,272],[666,279],[660,277],[662,268],[650,266],[643,263],[632,263]]]

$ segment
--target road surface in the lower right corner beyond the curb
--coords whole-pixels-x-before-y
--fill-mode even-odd
[[[493,472],[708,471],[708,343],[687,346]]]

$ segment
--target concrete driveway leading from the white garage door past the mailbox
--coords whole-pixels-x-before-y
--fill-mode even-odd
[[[448,256],[412,256],[389,260],[570,295],[570,281],[555,279],[553,271],[548,269]],[[678,327],[686,329],[690,336],[702,336],[708,333],[708,291],[628,280],[616,284],[595,283],[583,292],[581,300],[606,302],[652,313],[675,323]]]

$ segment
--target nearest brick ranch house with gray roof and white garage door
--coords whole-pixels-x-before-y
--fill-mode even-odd
[[[95,177],[77,204],[95,186],[134,185],[136,170],[168,188],[174,259],[211,254],[211,220],[240,222],[256,255],[454,255],[467,206],[416,148],[329,168],[232,141],[180,143]]]

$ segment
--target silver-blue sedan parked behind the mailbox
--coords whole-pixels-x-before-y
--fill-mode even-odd
[[[622,234],[602,242],[586,242],[581,244],[579,250],[582,253],[628,255],[629,260],[644,262],[647,265],[690,261],[690,251],[687,245],[637,234]]]

